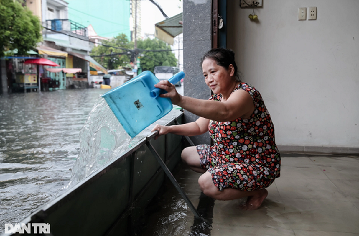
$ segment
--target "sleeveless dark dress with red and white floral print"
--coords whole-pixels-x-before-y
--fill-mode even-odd
[[[201,167],[211,173],[219,191],[264,189],[280,176],[274,126],[261,94],[248,83],[240,83],[234,91],[237,89],[251,95],[255,110],[248,119],[210,120],[208,129],[213,145],[197,146]],[[221,94],[213,94],[209,100],[221,99]]]

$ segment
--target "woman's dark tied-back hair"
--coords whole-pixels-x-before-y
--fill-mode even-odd
[[[214,60],[217,65],[222,66],[225,69],[228,69],[229,65],[232,64],[234,67],[234,76],[236,77],[237,81],[241,82],[241,77],[238,73],[236,61],[234,61],[234,52],[232,50],[225,48],[214,48],[206,52],[206,54],[201,59],[201,67],[203,61],[207,58]]]

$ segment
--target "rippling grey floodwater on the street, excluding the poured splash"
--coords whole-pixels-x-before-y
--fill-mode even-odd
[[[0,97],[0,225],[16,223],[70,181],[79,133],[108,89]],[[0,227],[0,232],[4,228]]]

